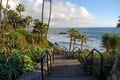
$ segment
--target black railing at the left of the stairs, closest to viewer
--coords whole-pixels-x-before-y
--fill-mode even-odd
[[[41,79],[44,80],[44,66],[47,67],[46,72],[47,76],[51,74],[52,69],[52,53],[49,52],[49,50],[45,50],[41,54]],[[46,63],[46,65],[44,65]]]

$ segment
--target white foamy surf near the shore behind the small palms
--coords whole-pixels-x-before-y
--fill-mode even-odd
[[[60,34],[49,34],[48,40],[52,43],[58,43],[61,47],[69,48],[70,40],[68,35],[60,35]],[[73,45],[73,44],[72,44]],[[80,47],[80,42],[77,42],[75,46]],[[90,49],[96,48],[100,51],[103,51],[104,48],[101,45],[101,40],[90,37],[86,44],[83,45],[83,49]]]

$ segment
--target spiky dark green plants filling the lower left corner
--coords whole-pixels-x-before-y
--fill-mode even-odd
[[[21,55],[19,50],[7,50],[6,55],[0,52],[0,75],[7,80],[16,80],[22,73],[32,71],[34,63],[27,55]]]

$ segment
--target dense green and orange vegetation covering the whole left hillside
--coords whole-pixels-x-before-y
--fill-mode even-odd
[[[40,22],[35,25],[36,29],[39,28],[37,35],[24,30],[30,23],[21,16],[24,9],[19,4],[16,8],[18,12],[8,8],[3,10],[6,17],[0,31],[0,80],[17,80],[22,73],[32,71],[43,49],[49,47],[48,40],[44,38],[46,24],[41,26]]]

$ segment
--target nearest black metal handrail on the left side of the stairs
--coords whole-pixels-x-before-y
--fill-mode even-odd
[[[41,79],[44,80],[44,59],[45,57],[47,57],[47,75],[49,76],[51,73],[51,69],[49,69],[52,67],[52,55],[49,53],[49,51],[47,49],[45,49],[42,53],[41,53],[41,59],[40,59],[40,63],[41,63]],[[50,59],[49,59],[50,58]],[[50,65],[49,65],[49,60],[50,60]]]

